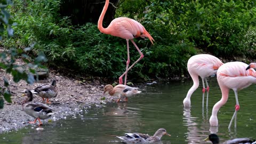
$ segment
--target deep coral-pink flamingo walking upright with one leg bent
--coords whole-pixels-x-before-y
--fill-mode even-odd
[[[119,84],[122,84],[123,76],[125,75],[124,84],[126,85],[126,78],[127,78],[128,70],[130,70],[135,65],[135,63],[137,63],[139,60],[141,60],[144,57],[144,55],[140,51],[139,47],[133,41],[133,38],[148,37],[152,44],[153,44],[153,41],[155,41],[155,40],[153,39],[153,37],[150,36],[148,31],[138,21],[135,21],[130,18],[125,18],[125,17],[116,18],[110,22],[110,24],[107,28],[103,28],[102,21],[103,21],[104,15],[108,9],[108,5],[109,5],[109,0],[106,0],[106,3],[103,7],[103,10],[100,14],[100,18],[98,21],[98,29],[100,30],[101,33],[109,34],[109,35],[113,35],[113,36],[117,36],[117,37],[126,39],[126,42],[127,42],[126,70],[125,70],[125,73],[119,77]],[[130,63],[129,39],[132,41],[133,45],[136,47],[136,49],[140,53],[140,58],[137,61],[135,61],[128,68],[129,63]]]

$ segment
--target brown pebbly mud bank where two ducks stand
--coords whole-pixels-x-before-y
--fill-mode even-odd
[[[0,72],[0,74],[2,76],[1,85],[3,85],[3,77],[12,79],[12,76],[5,74],[5,72]],[[106,99],[102,100],[103,86],[105,84],[100,84],[98,80],[88,83],[81,82],[54,71],[50,71],[47,79],[36,82],[33,85],[28,85],[25,81],[20,81],[19,83],[9,81],[12,103],[5,102],[4,108],[0,109],[0,133],[31,125],[28,122],[34,121],[34,118],[22,110],[21,103],[26,97],[22,97],[21,94],[26,89],[31,90],[42,84],[51,84],[53,79],[57,81],[58,95],[56,98],[50,99],[51,104],[47,104],[54,109],[54,112],[57,112],[57,114],[49,118],[52,121],[83,113],[84,110],[90,109],[92,105],[101,107],[105,102],[114,102],[116,100],[115,97],[110,97],[108,94],[104,95]],[[35,94],[33,101],[43,102],[42,98]],[[48,119],[45,119],[43,123],[48,124]],[[37,127],[36,124],[34,126]]]

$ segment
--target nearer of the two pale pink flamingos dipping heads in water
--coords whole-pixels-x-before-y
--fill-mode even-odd
[[[250,66],[243,62],[228,62],[223,64],[217,71],[217,80],[221,89],[222,98],[212,108],[212,116],[210,118],[211,126],[218,126],[218,111],[227,102],[229,90],[232,89],[235,92],[236,106],[235,113],[228,126],[228,129],[230,129],[233,119],[236,117],[237,111],[240,108],[237,91],[250,86],[252,83],[256,83],[256,71],[254,69],[246,70],[247,67]]]

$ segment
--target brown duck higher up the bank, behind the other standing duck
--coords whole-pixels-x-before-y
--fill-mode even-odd
[[[31,92],[39,95],[39,97],[41,97],[43,101],[44,99],[47,99],[46,103],[51,103],[49,102],[49,99],[55,98],[58,94],[56,89],[56,81],[53,80],[52,84],[44,84],[44,85],[38,86]]]

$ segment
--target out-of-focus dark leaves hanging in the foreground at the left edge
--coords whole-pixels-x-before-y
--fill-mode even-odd
[[[6,36],[13,36],[12,25],[13,22],[10,19],[10,13],[6,10],[7,6],[11,5],[12,1],[2,0],[0,1],[0,42],[2,42],[2,36],[5,31]],[[1,49],[0,53],[0,68],[6,73],[9,73],[13,77],[13,82],[17,83],[21,79],[25,80],[29,84],[35,82],[36,70],[35,68],[43,67],[40,62],[46,61],[43,54],[38,54],[36,58],[31,58],[27,55],[27,52],[31,51],[33,45],[26,47],[25,49],[16,49],[14,47],[9,50]],[[17,59],[22,58],[26,65],[17,64]],[[11,102],[11,92],[9,90],[9,79],[4,78],[4,83],[0,85],[0,109],[4,107],[4,99],[7,102]]]

